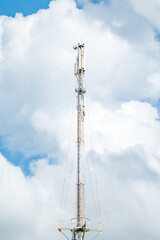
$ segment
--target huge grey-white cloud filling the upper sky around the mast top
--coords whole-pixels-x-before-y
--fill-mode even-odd
[[[115,3],[112,5],[114,8]],[[53,1],[49,9],[31,16],[1,16],[0,134],[9,151],[30,157],[52,156],[53,148],[60,150],[55,130],[62,115],[68,118],[67,111],[71,111],[72,45],[81,36],[86,42],[89,98],[107,107],[130,99],[159,98],[156,84],[150,87],[148,81],[159,65],[154,39],[150,51],[147,47],[139,51],[124,36],[112,32],[104,11],[98,19],[89,11],[94,5],[89,6],[79,10],[74,1]],[[96,7],[101,11],[98,4]],[[105,9],[113,11],[110,5]],[[42,129],[42,122],[47,129]]]

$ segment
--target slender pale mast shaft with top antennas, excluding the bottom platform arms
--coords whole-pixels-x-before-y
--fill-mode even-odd
[[[85,224],[84,212],[84,44],[78,44],[74,74],[77,77],[77,227]]]

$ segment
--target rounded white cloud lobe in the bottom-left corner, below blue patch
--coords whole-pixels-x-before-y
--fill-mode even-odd
[[[27,232],[32,235],[37,217],[31,188],[19,167],[12,166],[2,155],[0,162],[1,237],[20,239],[19,235]]]

